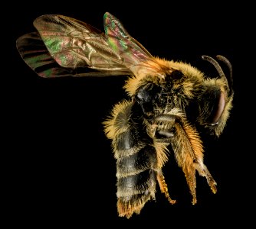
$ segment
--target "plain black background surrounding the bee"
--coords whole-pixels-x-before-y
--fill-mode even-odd
[[[8,90],[3,97],[8,116],[3,119],[8,145],[4,152],[9,159],[5,174],[10,176],[6,185],[5,212],[11,216],[8,223],[71,228],[88,227],[90,223],[122,227],[248,224],[248,207],[253,199],[253,180],[248,175],[254,150],[249,146],[252,117],[247,103],[253,101],[252,82],[243,80],[238,35],[245,34],[246,28],[238,17],[241,8],[233,7],[218,2],[15,4],[13,22],[8,27]],[[233,65],[231,117],[219,139],[204,137],[205,164],[218,183],[218,192],[212,194],[206,179],[197,176],[195,206],[182,170],[170,155],[163,171],[176,205],[169,205],[157,189],[156,202],[147,202],[139,215],[129,220],[119,218],[115,160],[102,121],[114,104],[126,98],[122,89],[126,77],[43,79],[15,49],[15,40],[34,31],[32,22],[40,15],[66,15],[103,31],[106,11],[119,18],[130,35],[154,56],[192,63],[209,76],[216,75],[215,69],[201,60],[202,55],[221,54]],[[4,90],[5,84],[2,87]]]

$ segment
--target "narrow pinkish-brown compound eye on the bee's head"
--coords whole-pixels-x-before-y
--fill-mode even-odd
[[[225,94],[224,92],[220,92],[220,95],[216,100],[215,105],[212,108],[212,115],[209,118],[209,123],[211,126],[215,126],[218,124],[218,120],[219,118],[221,118],[224,108],[225,108]]]

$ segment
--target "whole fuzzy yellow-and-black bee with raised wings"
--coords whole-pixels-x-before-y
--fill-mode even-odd
[[[34,20],[37,31],[19,37],[16,47],[25,63],[44,78],[127,76],[127,98],[103,121],[117,163],[120,217],[139,214],[156,198],[156,185],[171,204],[176,203],[162,172],[170,152],[185,174],[195,205],[196,171],[217,192],[203,161],[200,131],[219,137],[230,116],[230,61],[221,55],[202,56],[218,73],[208,77],[189,63],[152,56],[109,12],[103,23],[104,33],[74,18],[42,15]]]

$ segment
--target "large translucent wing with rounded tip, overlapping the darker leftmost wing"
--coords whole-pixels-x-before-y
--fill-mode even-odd
[[[62,15],[42,15],[34,20],[49,53],[63,67],[123,71],[123,60],[96,28]],[[126,72],[129,72],[126,69]]]

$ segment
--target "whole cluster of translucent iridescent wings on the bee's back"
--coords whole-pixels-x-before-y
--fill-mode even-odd
[[[109,13],[104,26],[106,36],[74,18],[42,15],[34,20],[38,32],[19,37],[16,44],[28,66],[42,77],[127,75],[130,66],[151,57]]]

